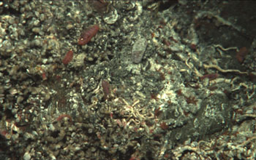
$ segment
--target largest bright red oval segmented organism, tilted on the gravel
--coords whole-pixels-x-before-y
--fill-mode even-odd
[[[97,34],[98,31],[99,25],[93,25],[86,31],[83,31],[83,33],[80,36],[80,39],[78,39],[78,44],[81,46],[87,44],[89,41],[91,41],[91,38]]]

